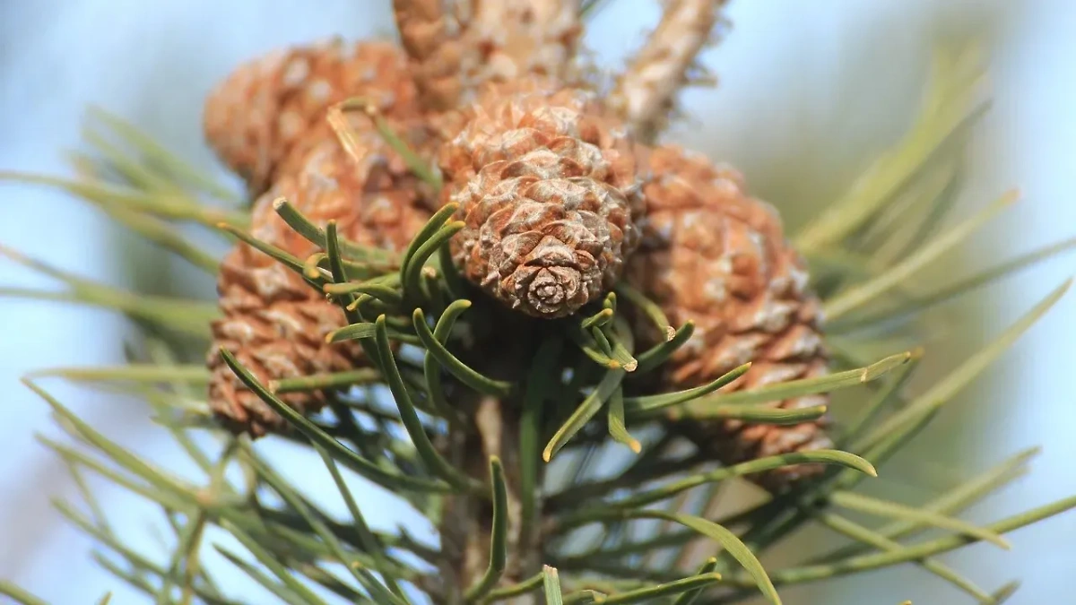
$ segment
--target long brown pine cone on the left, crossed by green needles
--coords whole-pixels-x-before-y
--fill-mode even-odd
[[[362,156],[349,156],[335,136],[316,130],[301,169],[282,177],[255,203],[252,235],[306,258],[318,252],[274,212],[284,197],[324,227],[336,220],[340,237],[359,244],[402,251],[429,219],[422,185],[364,117],[356,124]],[[417,123],[396,124],[414,149],[436,143]],[[306,144],[306,143],[305,143]],[[429,195],[429,194],[426,194]],[[353,369],[363,364],[362,349],[349,341],[325,342],[325,335],[345,325],[343,312],[293,270],[245,243],[225,257],[217,281],[224,318],[213,323],[209,366],[213,372],[210,405],[218,420],[237,433],[258,437],[286,423],[246,390],[220,358],[225,347],[264,383],[283,378]],[[322,393],[281,397],[307,413],[325,403]]]

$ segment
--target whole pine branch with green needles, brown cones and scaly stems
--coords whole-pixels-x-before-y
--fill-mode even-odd
[[[936,555],[1008,548],[1004,534],[1076,506],[960,519],[1034,451],[917,505],[858,489],[1068,287],[909,388],[932,363],[916,344],[931,307],[1076,243],[908,287],[1015,201],[942,228],[986,100],[974,55],[942,52],[905,139],[785,234],[781,205],[735,169],[662,141],[722,2],[666,0],[608,90],[580,52],[596,4],[394,0],[398,46],[317,42],[240,66],[208,99],[206,135],[245,199],[103,112],[77,178],[0,174],[62,187],[217,279],[213,304],[160,298],[0,249],[66,287],[3,294],[114,309],[143,330],[127,365],[24,381],[71,437],[41,441],[80,484],[93,474],[156,503],[173,531],[161,564],[93,490],[58,503],[118,581],[184,605],[779,604],[783,587],[910,563],[968,603],[1017,590]],[[190,227],[231,250],[216,258]],[[56,378],[143,398],[201,478],[73,414],[43,385]],[[336,502],[274,469],[282,452],[309,456]],[[723,509],[734,486],[760,502]],[[371,526],[374,488],[435,531]],[[761,562],[807,524],[853,544]],[[236,573],[266,592],[223,581]]]

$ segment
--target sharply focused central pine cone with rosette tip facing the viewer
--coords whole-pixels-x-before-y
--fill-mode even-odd
[[[526,80],[491,85],[441,151],[466,227],[451,243],[472,283],[560,318],[620,278],[642,209],[631,139],[595,96]]]

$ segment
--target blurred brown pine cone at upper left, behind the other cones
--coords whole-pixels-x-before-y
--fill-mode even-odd
[[[206,102],[203,129],[210,145],[260,195],[283,173],[288,155],[326,110],[349,97],[364,97],[390,117],[417,114],[407,57],[387,42],[346,44],[339,38],[274,51],[240,66]]]

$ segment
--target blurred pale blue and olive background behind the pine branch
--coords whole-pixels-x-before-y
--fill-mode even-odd
[[[238,62],[275,46],[334,33],[384,34],[392,27],[388,4],[0,2],[0,171],[68,174],[63,153],[77,147],[85,109],[96,104],[238,188],[201,139],[210,87]],[[595,19],[587,43],[601,62],[614,67],[656,15],[652,0],[615,0]],[[986,44],[994,104],[972,139],[966,185],[953,217],[1013,186],[1023,200],[916,279],[944,283],[1076,236],[1072,3],[732,0],[727,17],[732,29],[705,57],[720,86],[685,95],[691,118],[669,138],[736,165],[755,194],[784,210],[790,228],[840,195],[908,127],[933,45],[972,36]],[[48,188],[0,181],[0,243],[115,285],[214,295],[204,277],[170,265],[165,254],[127,237],[94,208]],[[945,306],[948,329],[929,342],[929,374],[939,376],[974,352],[1073,273],[1076,258],[1063,256]],[[53,285],[0,259],[0,287]],[[49,498],[73,493],[73,487],[36,442],[36,432],[54,431],[46,406],[18,378],[46,366],[121,363],[131,334],[114,313],[0,298],[0,406],[6,412],[0,422],[0,578],[52,603],[86,603],[107,590],[114,590],[113,603],[142,601],[89,560],[91,541],[49,507]],[[1042,445],[1033,473],[969,511],[968,519],[996,519],[1076,492],[1071,463],[1076,395],[1068,374],[1074,361],[1076,297],[1070,293],[916,441],[915,461],[895,462],[896,489],[908,490],[911,500],[917,483],[928,484],[932,474],[981,470]],[[137,403],[62,383],[48,389],[110,436],[168,464],[171,453],[155,441]],[[288,461],[286,452],[283,459],[283,470],[301,472],[302,461]],[[152,516],[138,501],[107,491],[104,504],[128,521],[131,540],[155,548]],[[395,520],[374,502],[365,509],[376,525]],[[976,546],[945,560],[990,589],[1022,579],[1017,603],[1056,602],[1068,592],[1076,569],[1073,536],[1076,515],[1070,513],[1014,534],[1013,552]],[[57,573],[63,581],[55,581]],[[954,597],[963,596],[904,566],[806,587],[790,592],[787,602],[911,599],[919,605]]]

